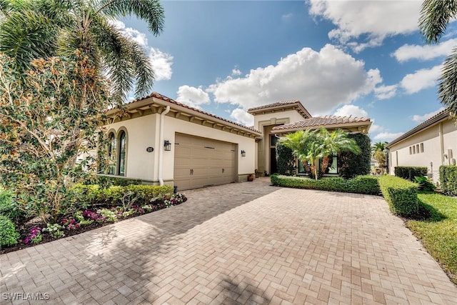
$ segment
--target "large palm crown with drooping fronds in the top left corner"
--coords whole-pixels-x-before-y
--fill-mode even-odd
[[[152,88],[154,71],[144,49],[114,22],[134,15],[159,35],[164,9],[159,0],[0,0],[0,51],[27,71],[32,59],[74,58],[76,50],[95,64],[119,100],[135,85],[142,96]]]

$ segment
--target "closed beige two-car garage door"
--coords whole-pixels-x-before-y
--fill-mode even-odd
[[[174,185],[179,190],[235,182],[236,144],[176,134]]]

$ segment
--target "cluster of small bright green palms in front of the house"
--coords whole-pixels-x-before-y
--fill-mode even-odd
[[[287,134],[280,139],[281,143],[292,150],[303,165],[311,167],[314,178],[318,179],[316,160],[323,159],[323,166],[319,174],[325,172],[328,166],[328,157],[338,154],[340,151],[352,151],[354,154],[360,153],[360,148],[356,141],[349,139],[347,134],[341,129],[329,132],[327,129],[306,129]],[[323,171],[322,171],[323,169]]]

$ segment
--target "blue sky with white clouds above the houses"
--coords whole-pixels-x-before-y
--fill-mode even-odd
[[[148,52],[154,91],[241,124],[298,99],[313,116],[368,116],[391,141],[441,110],[437,80],[457,27],[424,44],[421,1],[162,1],[160,36],[119,27]]]

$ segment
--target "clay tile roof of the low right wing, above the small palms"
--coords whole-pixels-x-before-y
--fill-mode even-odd
[[[358,116],[315,116],[303,121],[296,121],[291,124],[273,127],[273,130],[288,130],[288,129],[307,129],[318,126],[338,126],[351,123],[369,123],[369,118]]]

